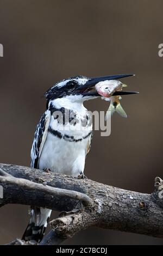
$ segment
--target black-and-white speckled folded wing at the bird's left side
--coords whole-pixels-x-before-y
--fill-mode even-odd
[[[39,157],[46,141],[49,123],[51,121],[51,112],[47,110],[43,113],[39,123],[36,126],[34,141],[30,152],[30,167],[38,168]]]

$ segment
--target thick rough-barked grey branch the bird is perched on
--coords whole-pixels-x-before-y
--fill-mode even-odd
[[[57,173],[46,173],[29,167],[0,164],[0,168],[17,178],[26,179],[41,185],[44,182],[49,187],[77,191],[91,198],[91,204],[82,205],[79,200],[60,194],[46,193],[37,190],[37,185],[20,186],[17,183],[5,182],[8,176],[0,176],[4,197],[0,205],[9,203],[36,205],[48,209],[66,211],[51,222],[52,231],[45,237],[44,244],[58,243],[72,237],[78,231],[90,226],[128,231],[155,237],[163,237],[163,182],[155,179],[155,190],[152,194],[123,190],[98,182]],[[41,185],[41,188],[47,187]],[[55,241],[53,238],[55,237]],[[43,242],[42,240],[42,242]],[[49,241],[49,243],[48,243]],[[56,243],[55,243],[56,244]]]

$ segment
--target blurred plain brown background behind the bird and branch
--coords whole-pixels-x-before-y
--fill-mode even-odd
[[[134,73],[123,79],[139,95],[124,96],[128,118],[115,114],[111,136],[94,132],[85,174],[96,181],[151,193],[162,176],[161,0],[1,0],[0,161],[29,166],[43,93],[62,78]],[[106,110],[101,99],[86,102]],[[21,237],[27,206],[0,211],[0,243]],[[163,240],[90,228],[65,244],[163,244]]]

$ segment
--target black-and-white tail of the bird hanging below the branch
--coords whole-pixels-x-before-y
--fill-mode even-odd
[[[44,208],[32,208],[31,217],[23,234],[22,240],[39,243],[45,233],[52,210]]]

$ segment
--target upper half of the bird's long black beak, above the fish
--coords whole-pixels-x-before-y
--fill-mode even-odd
[[[102,82],[105,80],[118,80],[123,77],[135,76],[133,74],[122,74],[122,75],[112,75],[112,76],[99,76],[99,77],[91,77],[83,86],[80,86],[80,89],[89,88],[95,86],[98,82]]]

